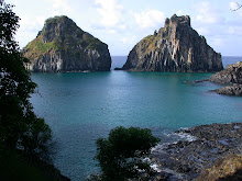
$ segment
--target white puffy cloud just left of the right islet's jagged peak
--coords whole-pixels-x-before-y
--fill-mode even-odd
[[[134,13],[138,25],[142,29],[154,29],[157,25],[162,26],[165,21],[165,15],[162,11],[146,10],[142,13]]]

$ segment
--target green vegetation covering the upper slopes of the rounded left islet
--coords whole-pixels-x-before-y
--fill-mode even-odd
[[[55,16],[46,20],[46,27],[41,32],[41,34],[32,42],[30,42],[24,49],[28,49],[32,55],[36,57],[45,54],[50,50],[67,50],[72,47],[76,48],[78,45],[86,49],[102,50],[106,48],[102,42],[95,38],[89,33],[77,29],[76,24],[70,24],[68,27],[62,31],[62,34],[55,35],[50,32],[55,32],[48,29],[52,26],[64,22],[66,16]],[[52,24],[52,25],[51,25]],[[51,37],[51,39],[48,39]],[[46,39],[45,42],[43,39]],[[78,50],[78,49],[77,49]]]

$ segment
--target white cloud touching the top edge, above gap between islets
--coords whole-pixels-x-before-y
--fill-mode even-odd
[[[101,15],[101,25],[110,27],[123,21],[123,7],[118,3],[118,0],[96,0],[95,2],[99,5],[97,11]]]

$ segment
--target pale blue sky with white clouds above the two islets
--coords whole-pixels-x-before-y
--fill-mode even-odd
[[[112,56],[127,56],[173,14],[189,15],[191,26],[223,56],[242,56],[242,0],[6,0],[21,18],[15,39],[23,48],[48,18],[67,15],[105,42]]]

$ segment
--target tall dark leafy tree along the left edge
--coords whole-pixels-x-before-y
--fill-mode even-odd
[[[31,80],[14,35],[20,18],[13,5],[0,0],[0,148],[40,155],[46,150],[52,133],[30,103],[36,83]]]

